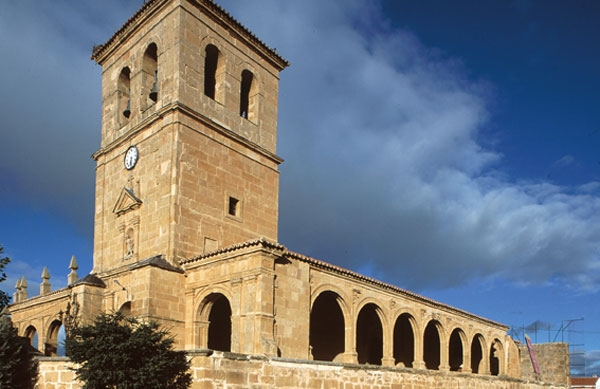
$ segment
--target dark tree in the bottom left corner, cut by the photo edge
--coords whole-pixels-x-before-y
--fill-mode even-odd
[[[0,388],[33,388],[37,367],[28,340],[18,335],[7,313],[0,313]]]

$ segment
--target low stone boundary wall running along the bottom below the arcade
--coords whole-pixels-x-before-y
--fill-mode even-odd
[[[391,388],[558,389],[529,379],[268,358],[202,350],[188,354],[193,389],[216,388]],[[41,358],[36,389],[79,389],[66,358]]]

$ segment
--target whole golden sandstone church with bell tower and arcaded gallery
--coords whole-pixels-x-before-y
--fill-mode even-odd
[[[92,59],[93,269],[79,278],[73,260],[67,287],[52,291],[45,274],[29,298],[20,282],[9,306],[48,357],[39,387],[68,370],[53,356],[71,301],[83,321],[121,311],[168,328],[192,387],[566,387],[568,355],[534,375],[506,325],[278,243],[278,82],[290,64],[214,1],[146,1]]]

